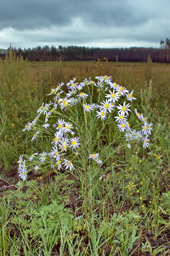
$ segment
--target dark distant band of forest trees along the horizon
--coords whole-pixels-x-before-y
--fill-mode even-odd
[[[148,56],[153,62],[170,63],[170,48],[89,48],[82,46],[38,46],[21,49],[10,48],[16,55],[29,61],[97,61],[107,58],[108,61],[144,62]],[[117,56],[117,57],[116,57]],[[1,54],[5,57],[5,54]]]

